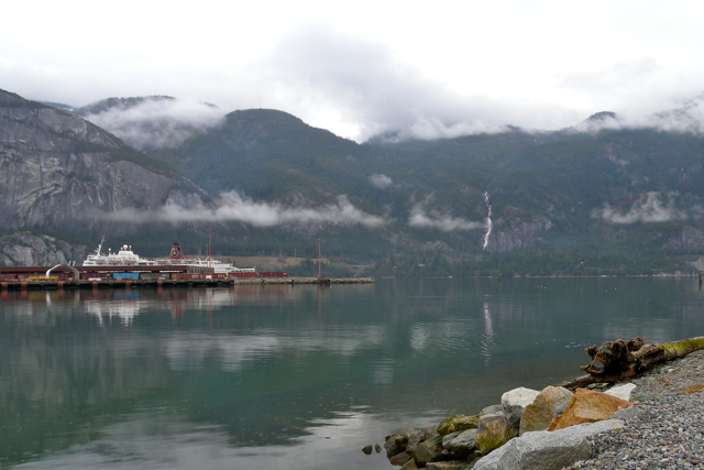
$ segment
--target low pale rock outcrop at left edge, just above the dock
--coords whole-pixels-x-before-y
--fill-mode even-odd
[[[81,264],[87,250],[84,244],[70,244],[50,236],[15,232],[0,236],[1,266],[54,266],[75,261]]]

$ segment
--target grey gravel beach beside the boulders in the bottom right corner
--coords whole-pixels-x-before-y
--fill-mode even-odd
[[[566,469],[704,470],[704,351],[625,383],[638,386],[631,401],[639,414],[625,429],[592,438],[594,457]]]

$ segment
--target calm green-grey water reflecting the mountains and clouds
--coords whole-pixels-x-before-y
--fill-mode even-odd
[[[691,277],[3,292],[0,467],[391,469],[360,449],[703,335]]]

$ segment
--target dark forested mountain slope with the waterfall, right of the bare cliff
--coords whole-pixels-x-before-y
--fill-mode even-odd
[[[695,132],[510,128],[359,144],[282,111],[251,109],[155,156],[213,196],[207,207],[217,217],[204,222],[189,212],[169,233],[196,240],[212,227],[213,244],[228,254],[312,258],[322,238],[333,260],[415,275],[656,272],[704,253],[704,139]],[[165,198],[129,204],[154,208]],[[257,211],[278,218],[263,223]],[[134,232],[154,238],[153,230]]]

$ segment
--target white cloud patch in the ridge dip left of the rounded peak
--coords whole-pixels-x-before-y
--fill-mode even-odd
[[[92,112],[77,111],[87,121],[142,151],[176,147],[195,133],[218,125],[224,116],[215,106],[189,100],[165,97],[147,97],[138,103],[130,100],[134,99],[119,100]]]

